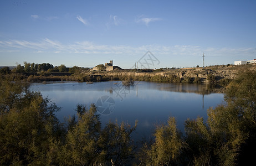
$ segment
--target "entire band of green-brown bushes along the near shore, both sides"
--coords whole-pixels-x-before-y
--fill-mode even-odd
[[[131,138],[137,122],[103,128],[95,105],[77,105],[77,118],[60,123],[59,107],[17,75],[2,74],[1,165],[122,165],[135,157],[140,165],[246,165],[256,155],[255,71],[240,72],[226,87],[226,103],[209,108],[206,121],[188,119],[181,133],[170,117],[137,151]]]

